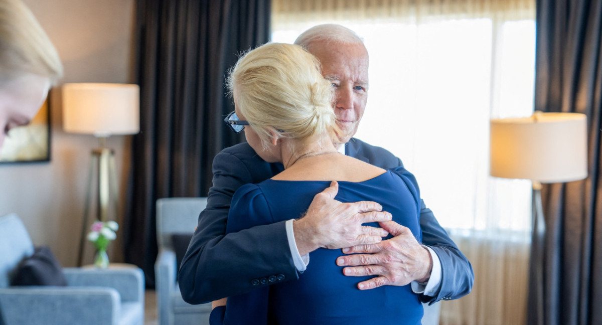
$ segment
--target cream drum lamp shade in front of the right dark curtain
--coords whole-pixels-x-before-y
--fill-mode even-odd
[[[492,176],[541,183],[586,178],[586,117],[577,113],[541,113],[491,120]]]

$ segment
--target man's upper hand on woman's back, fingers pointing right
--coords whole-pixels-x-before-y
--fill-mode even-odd
[[[295,220],[293,232],[300,255],[324,247],[341,249],[360,244],[379,243],[389,233],[382,228],[362,226],[362,223],[388,221],[389,212],[381,212],[376,202],[341,203],[334,199],[338,183],[315,195],[304,217]]]

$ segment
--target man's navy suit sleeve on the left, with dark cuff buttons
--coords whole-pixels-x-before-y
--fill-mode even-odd
[[[214,158],[213,174],[207,206],[200,212],[178,273],[185,302],[199,304],[249,293],[266,285],[264,279],[297,279],[285,221],[226,235],[232,196],[239,187],[253,182],[249,167],[222,151]]]

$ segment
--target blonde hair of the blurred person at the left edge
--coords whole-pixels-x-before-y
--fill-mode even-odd
[[[63,65],[29,8],[19,0],[0,0],[0,82],[23,72],[47,76],[55,84]]]

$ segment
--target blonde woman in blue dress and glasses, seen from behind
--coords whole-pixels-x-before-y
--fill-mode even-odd
[[[408,227],[421,241],[420,194],[414,176],[402,167],[380,169],[335,148],[345,136],[335,123],[332,86],[321,76],[313,55],[296,45],[260,46],[240,58],[228,84],[235,112],[226,123],[238,132],[244,128],[255,152],[267,162],[281,162],[284,171],[236,191],[226,233],[291,218],[298,218],[294,223],[307,222],[299,217],[315,194],[337,181],[337,200],[382,203],[393,221]],[[387,235],[376,229],[382,237]],[[311,259],[298,280],[283,281],[278,274],[253,279],[258,286],[274,284],[228,297],[225,307],[213,310],[211,323],[420,324],[423,309],[410,285],[361,291],[358,282],[369,277],[344,276],[343,267],[334,262],[340,250],[317,244],[297,249]]]

